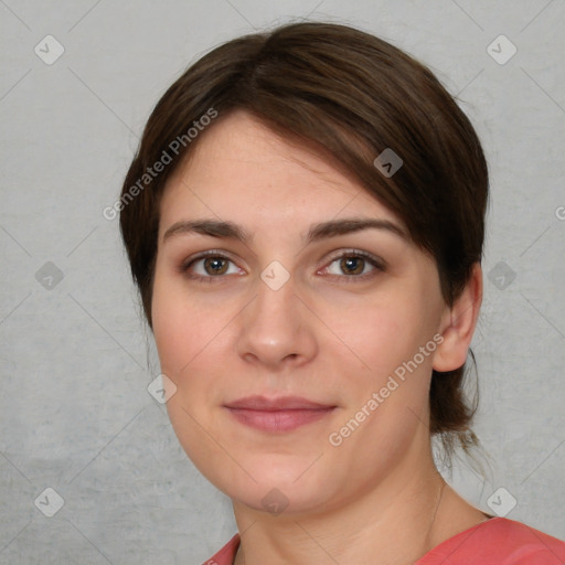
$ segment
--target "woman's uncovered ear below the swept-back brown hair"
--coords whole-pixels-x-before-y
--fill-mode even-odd
[[[479,263],[472,267],[472,274],[463,291],[454,306],[446,305],[441,315],[439,332],[444,341],[436,349],[433,367],[446,372],[459,369],[467,360],[472,334],[482,302],[482,269]]]

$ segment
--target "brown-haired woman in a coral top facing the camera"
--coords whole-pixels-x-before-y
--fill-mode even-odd
[[[164,94],[120,227],[175,434],[233,500],[207,563],[563,563],[434,463],[476,443],[487,199],[454,99],[351,28],[233,40]]]

